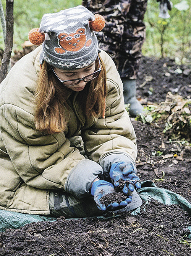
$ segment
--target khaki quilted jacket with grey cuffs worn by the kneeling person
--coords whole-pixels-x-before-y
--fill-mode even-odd
[[[71,99],[73,91],[68,90],[68,130],[50,135],[35,129],[34,94],[40,51],[41,46],[21,58],[0,84],[2,210],[49,214],[49,190],[65,189],[79,198],[87,196],[95,177],[103,175],[105,156],[110,162],[112,155],[115,161],[136,158],[136,137],[124,108],[123,86],[112,59],[104,51],[100,56],[107,70],[105,118],[86,120],[79,93]],[[69,138],[79,131],[89,159],[70,145]]]

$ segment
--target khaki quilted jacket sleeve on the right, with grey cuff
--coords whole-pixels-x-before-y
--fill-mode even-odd
[[[107,71],[105,118],[99,118],[91,127],[82,130],[84,149],[89,159],[95,162],[103,163],[105,155],[107,162],[125,158],[134,162],[137,154],[136,135],[125,110],[123,84],[112,59],[103,52],[101,56]],[[103,167],[106,168],[106,164]]]

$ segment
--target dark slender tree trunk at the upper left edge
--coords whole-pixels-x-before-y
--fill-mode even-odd
[[[0,83],[7,75],[8,65],[11,58],[11,52],[13,48],[13,2],[14,0],[6,0],[6,40],[5,51],[3,54],[2,65],[0,69]]]

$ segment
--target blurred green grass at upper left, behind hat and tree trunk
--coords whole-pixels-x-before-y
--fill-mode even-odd
[[[28,33],[32,28],[39,28],[42,16],[45,13],[59,12],[60,10],[80,5],[81,0],[15,0],[14,1],[14,37],[13,49],[21,48],[28,40]],[[5,10],[5,0],[2,0]],[[0,26],[0,48],[4,48],[2,26]]]

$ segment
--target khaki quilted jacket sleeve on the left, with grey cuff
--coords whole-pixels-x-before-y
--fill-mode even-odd
[[[80,193],[79,197],[89,193],[92,181],[102,173],[102,168],[84,159],[78,149],[70,147],[64,133],[40,133],[35,130],[34,116],[13,104],[0,107],[0,119],[6,152],[27,185],[40,189],[63,189],[71,172],[78,178],[68,178],[66,191],[69,188],[75,195]]]

